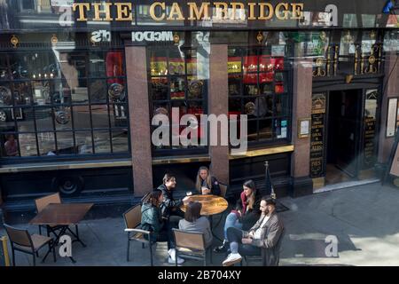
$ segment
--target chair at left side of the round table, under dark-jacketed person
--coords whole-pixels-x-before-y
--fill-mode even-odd
[[[151,241],[151,232],[139,229],[139,225],[141,224],[141,204],[137,204],[123,213],[123,219],[125,220],[126,225],[125,232],[128,232],[128,262],[130,241],[138,241],[142,243],[142,248],[145,248],[145,244],[149,245],[151,266],[153,266],[153,246]]]

